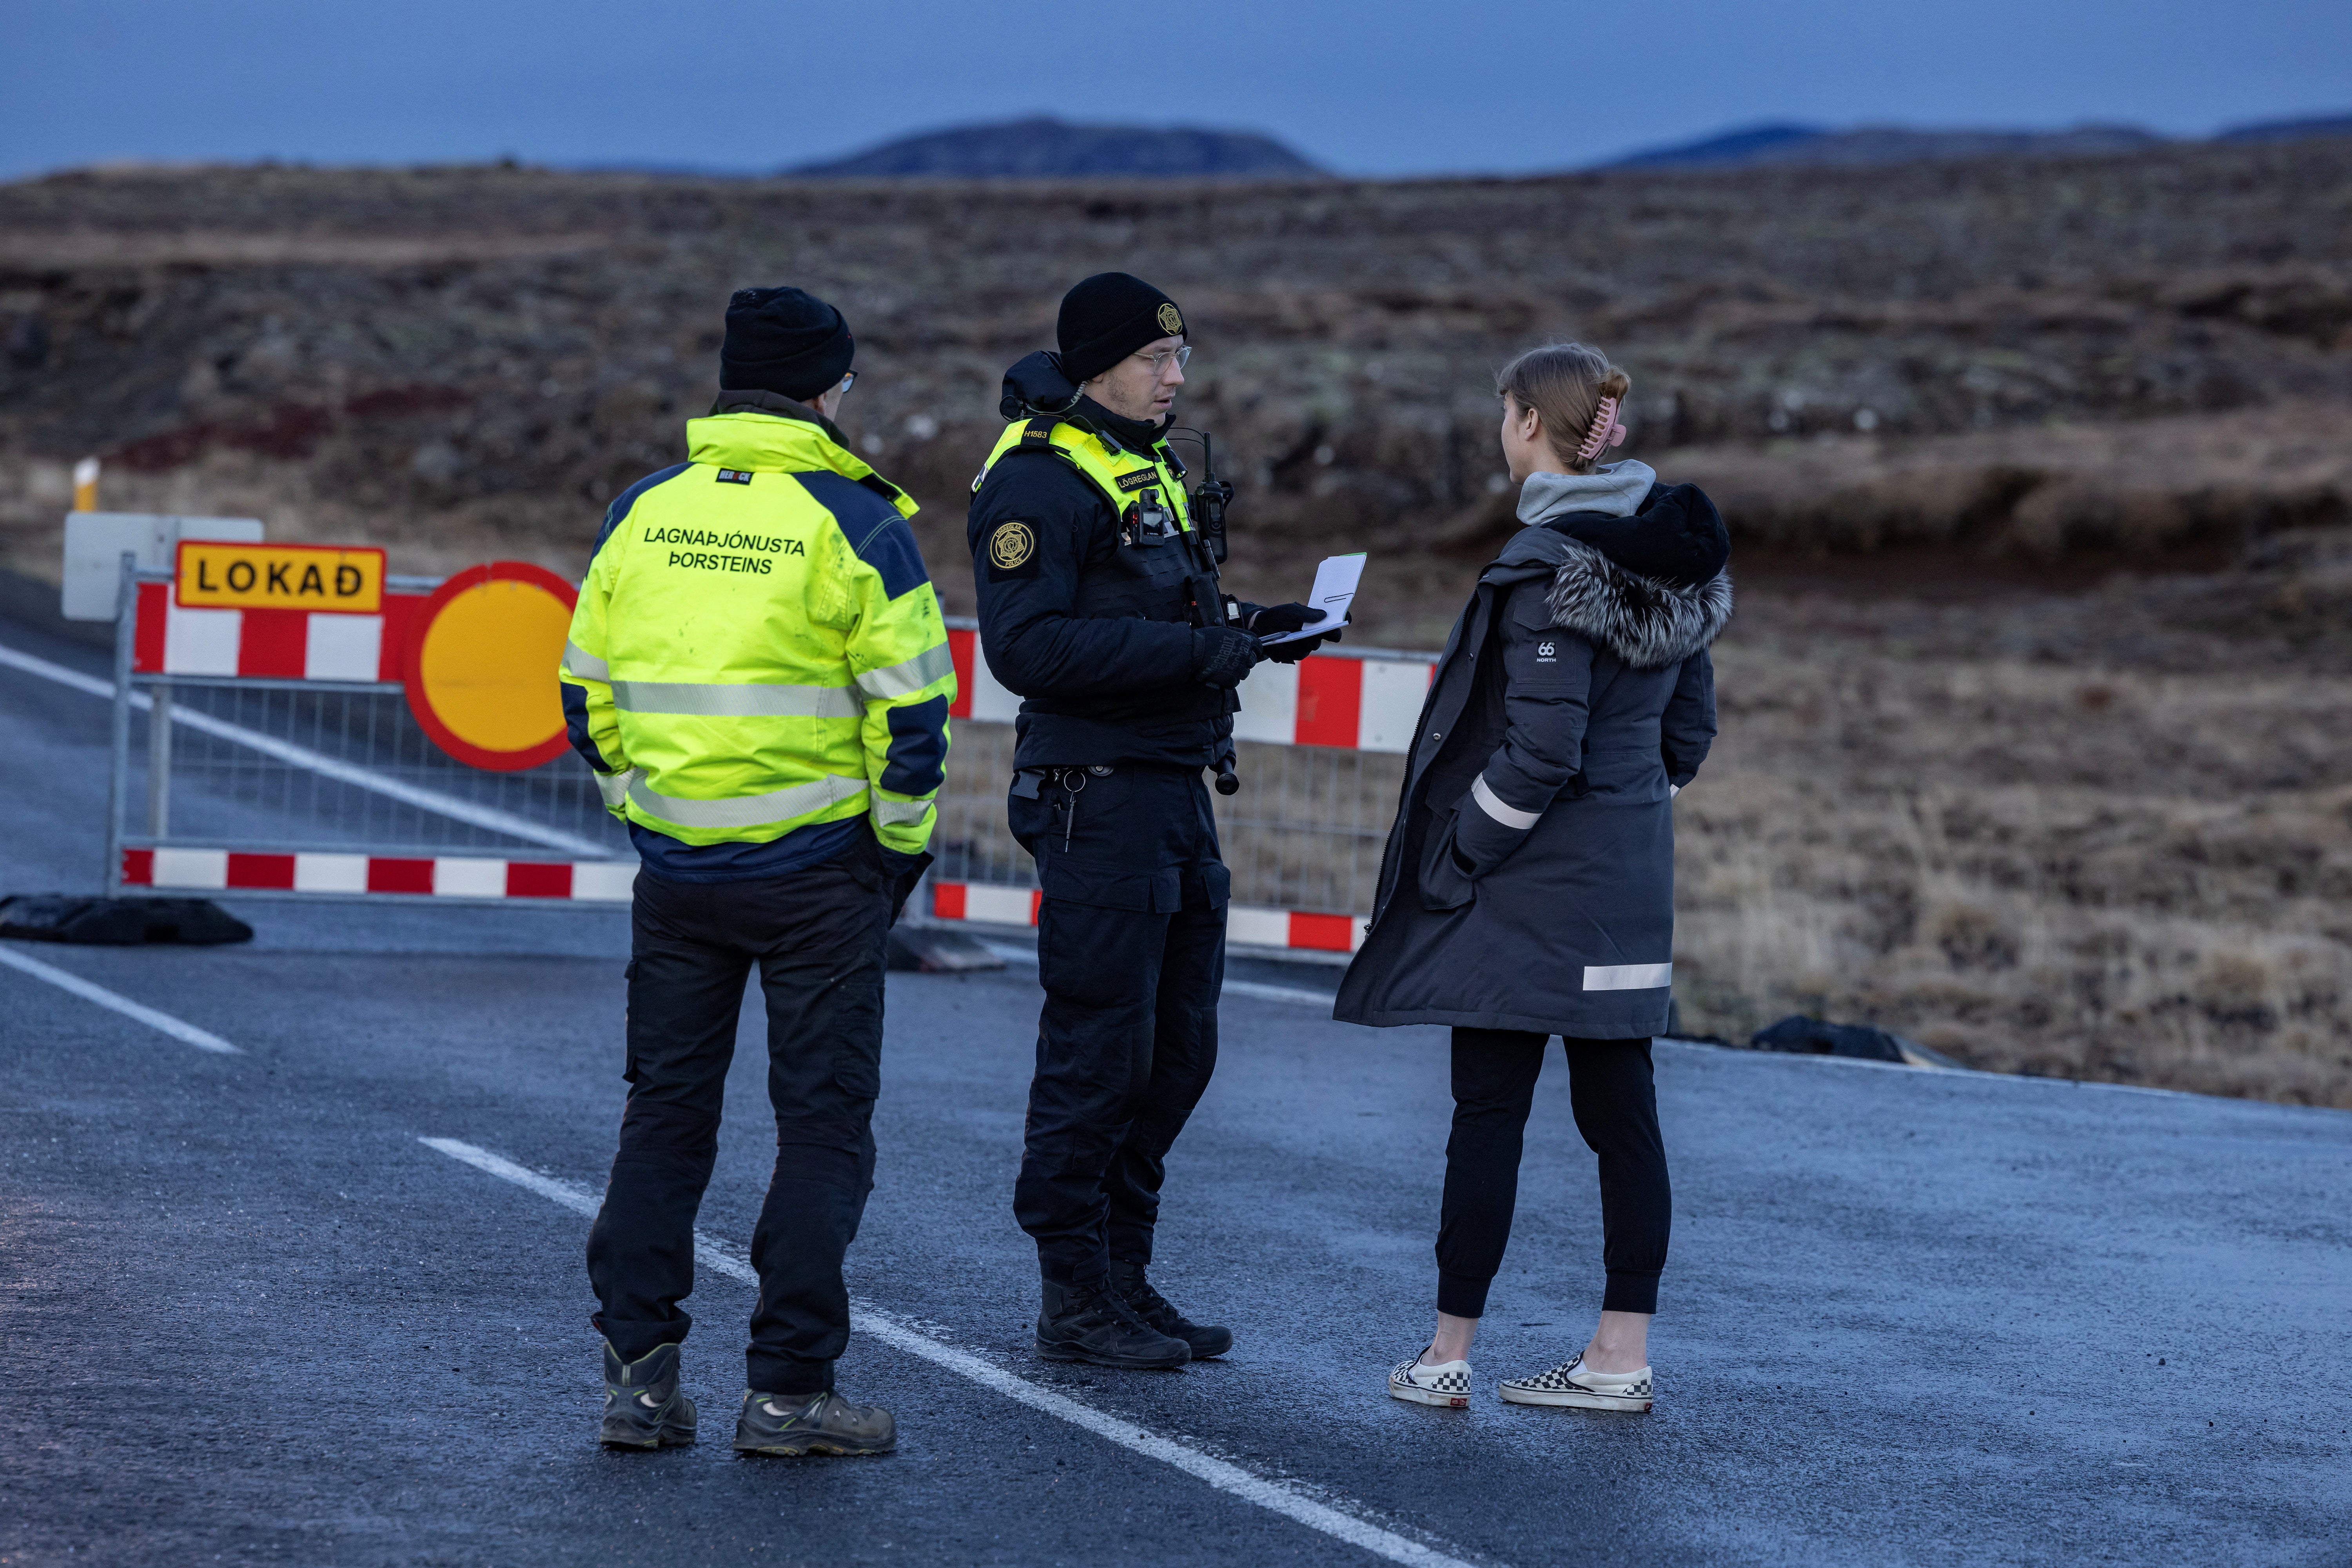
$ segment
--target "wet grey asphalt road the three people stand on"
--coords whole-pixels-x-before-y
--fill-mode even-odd
[[[0,891],[92,884],[103,729],[0,670]],[[901,1453],[729,1453],[750,1291],[706,1269],[706,1441],[609,1455],[586,1220],[421,1140],[600,1187],[623,919],[235,907],[247,947],[7,945],[238,1053],[0,966],[0,1563],[2352,1561],[2340,1112],[1661,1044],[1661,1401],[1623,1418],[1491,1392],[1602,1284],[1555,1058],[1479,1399],[1430,1410],[1383,1378],[1432,1305],[1437,1030],[1228,994],[1155,1274],[1237,1347],[1103,1373],[1028,1352],[1033,973],[891,976],[851,1291],[896,1338],[840,1375]],[[755,1020],[703,1208],[736,1248]]]

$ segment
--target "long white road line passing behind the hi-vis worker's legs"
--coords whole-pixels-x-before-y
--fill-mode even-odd
[[[553,1175],[539,1175],[536,1171],[524,1171],[510,1159],[501,1159],[489,1150],[480,1150],[470,1143],[459,1143],[456,1138],[419,1138],[416,1143],[426,1145],[428,1150],[440,1150],[449,1159],[463,1161],[475,1171],[487,1171],[499,1180],[527,1187],[543,1199],[562,1204],[572,1213],[583,1213],[593,1218],[602,1201],[586,1187],[574,1187],[572,1182],[555,1180]],[[710,1269],[713,1274],[727,1274],[729,1279],[741,1279],[748,1286],[760,1284],[760,1276],[753,1272],[750,1262],[746,1262],[731,1248],[713,1241],[703,1232],[694,1232],[694,1260],[701,1267]],[[1284,1519],[1294,1519],[1308,1526],[1310,1530],[1322,1530],[1324,1535],[1343,1540],[1350,1547],[1362,1547],[1364,1552],[1383,1556],[1390,1563],[1414,1563],[1416,1568],[1470,1568],[1470,1563],[1456,1556],[1446,1556],[1435,1547],[1425,1547],[1418,1540],[1406,1540],[1404,1535],[1397,1535],[1395,1530],[1383,1530],[1381,1526],[1357,1519],[1355,1514],[1343,1514],[1336,1507],[1315,1502],[1312,1497],[1303,1495],[1298,1488],[1284,1481],[1270,1481],[1261,1474],[1242,1469],[1240,1465],[1211,1458],[1200,1448],[1188,1448],[1152,1432],[1141,1432],[1129,1420],[1122,1420],[1105,1410],[1096,1410],[1094,1406],[1084,1406],[1065,1394],[1056,1394],[1054,1389],[1035,1385],[1028,1378],[1007,1373],[1002,1366],[995,1366],[993,1361],[983,1361],[969,1352],[934,1340],[931,1335],[922,1333],[920,1328],[906,1324],[903,1319],[889,1312],[882,1312],[880,1307],[873,1307],[868,1302],[851,1302],[851,1307],[856,1309],[854,1324],[858,1333],[870,1333],[884,1345],[894,1345],[908,1354],[922,1356],[934,1366],[943,1366],[950,1373],[971,1378],[981,1387],[995,1389],[1007,1399],[1016,1399],[1030,1406],[1033,1410],[1058,1415],[1073,1427],[1084,1427],[1087,1432],[1094,1432],[1096,1436],[1108,1439],[1120,1448],[1141,1453],[1143,1458],[1150,1460],[1160,1460],[1162,1465],[1174,1465],[1176,1469],[1190,1476],[1200,1476],[1221,1493],[1230,1493],[1244,1502],[1256,1502],[1261,1509],[1270,1509],[1275,1514],[1282,1514]]]

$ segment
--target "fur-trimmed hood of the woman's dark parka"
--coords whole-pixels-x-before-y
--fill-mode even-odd
[[[1548,512],[1519,529],[1489,574],[1550,574],[1552,625],[1637,670],[1689,658],[1731,621],[1731,536],[1696,484],[1658,484],[1630,515]]]

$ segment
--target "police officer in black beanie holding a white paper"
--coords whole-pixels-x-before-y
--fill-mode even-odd
[[[1216,588],[1221,529],[1195,510],[1221,517],[1225,491],[1188,496],[1169,447],[1192,353],[1176,301],[1098,273],[1061,301],[1056,336],[1058,355],[1007,374],[1014,423],[969,517],[981,646],[1025,698],[1011,830],[1044,893],[1014,1215],[1044,1274],[1040,1354],[1181,1366],[1232,1347],[1145,1276],[1169,1145],[1216,1067],[1228,875],[1202,771],[1232,771],[1258,637],[1312,616]]]

